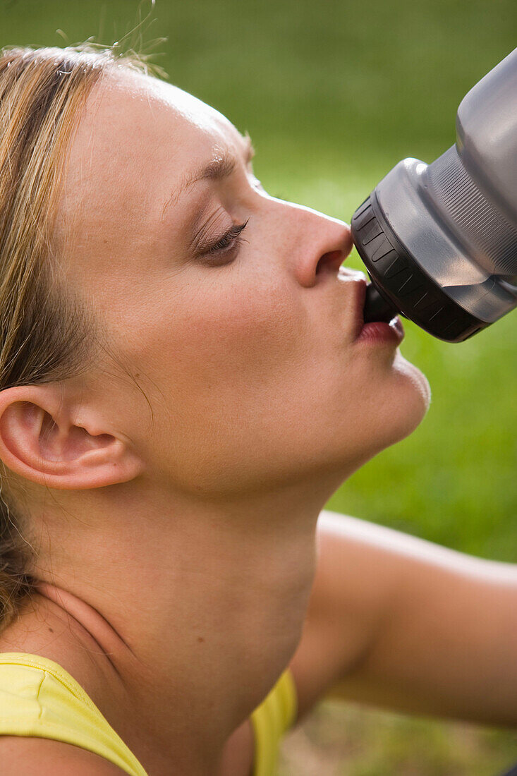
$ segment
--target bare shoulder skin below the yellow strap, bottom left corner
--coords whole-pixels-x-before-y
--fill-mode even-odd
[[[120,776],[115,764],[71,743],[36,736],[0,736],[2,776]]]

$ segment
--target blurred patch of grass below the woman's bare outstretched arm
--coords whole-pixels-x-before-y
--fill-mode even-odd
[[[496,776],[515,762],[507,731],[328,701],[286,736],[279,776]]]

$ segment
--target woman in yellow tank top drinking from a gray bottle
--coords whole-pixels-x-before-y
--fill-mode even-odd
[[[349,227],[109,52],[0,89],[5,776],[271,774],[329,691],[514,723],[515,569],[321,511],[429,405]]]

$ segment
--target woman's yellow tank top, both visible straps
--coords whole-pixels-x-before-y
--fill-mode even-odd
[[[297,715],[296,688],[286,669],[252,713],[253,776],[273,776],[279,741]],[[130,776],[146,771],[81,685],[46,657],[0,653],[0,735],[40,736],[88,749]]]

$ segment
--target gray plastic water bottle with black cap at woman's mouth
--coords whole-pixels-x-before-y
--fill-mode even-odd
[[[392,314],[401,310],[435,336],[461,341],[517,307],[517,49],[463,98],[456,144],[430,165],[400,161],[372,192],[371,213],[364,204],[352,217],[352,235]],[[384,278],[394,269],[379,261],[383,250],[390,261],[405,256],[400,293]],[[444,309],[479,325],[457,334],[460,325],[444,317],[440,327],[438,314],[428,327],[412,314],[418,293],[411,303],[404,298],[417,278],[425,289],[429,281]]]

